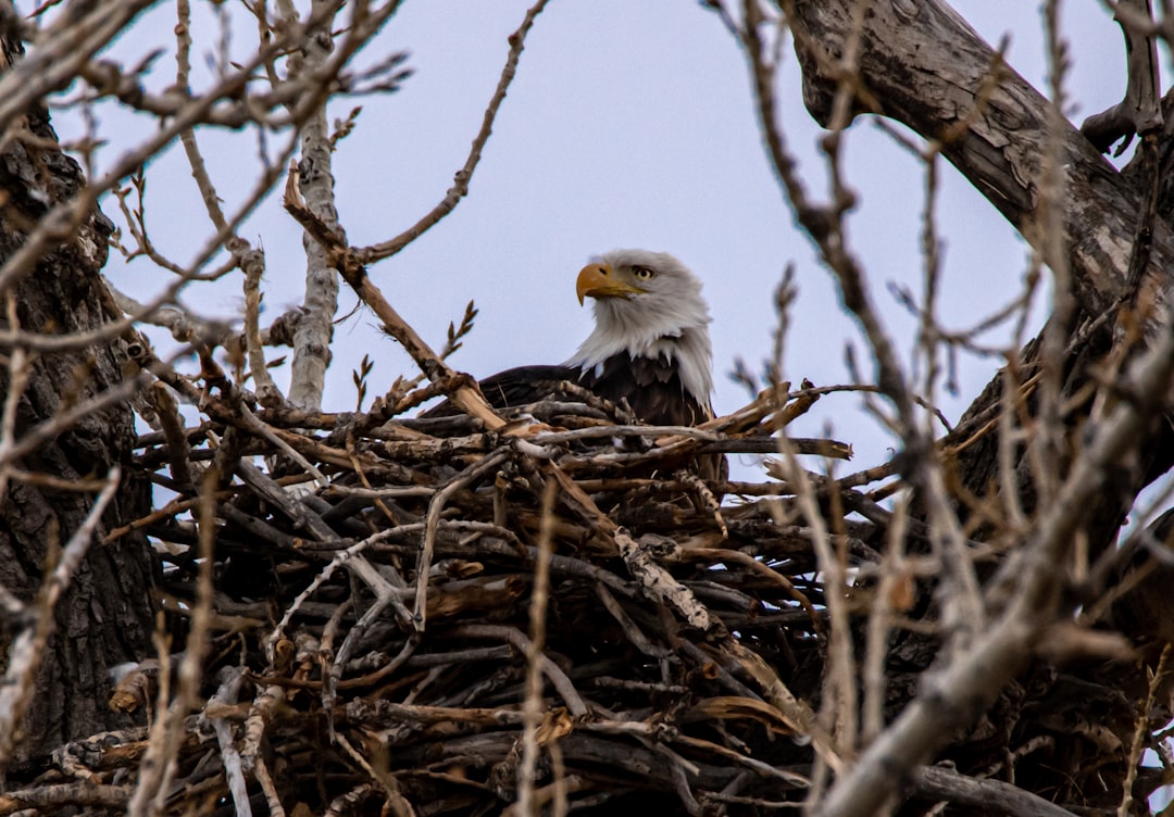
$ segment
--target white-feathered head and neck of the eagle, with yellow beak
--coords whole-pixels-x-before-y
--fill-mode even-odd
[[[667,252],[613,250],[579,272],[579,302],[594,299],[595,329],[567,365],[602,366],[613,355],[663,357],[702,406],[713,391],[709,308],[701,281]]]

